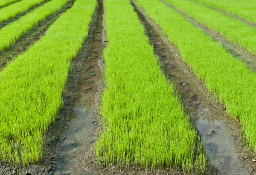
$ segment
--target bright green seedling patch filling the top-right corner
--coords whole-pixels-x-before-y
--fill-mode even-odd
[[[194,0],[256,23],[255,0]]]

